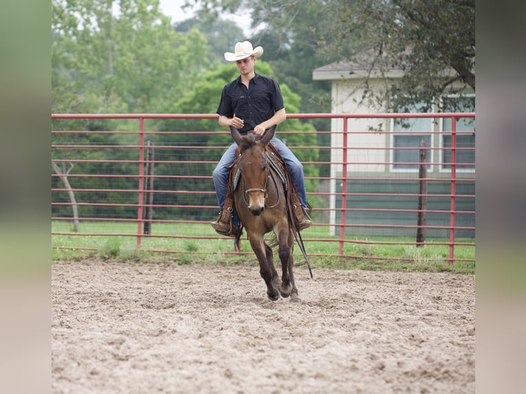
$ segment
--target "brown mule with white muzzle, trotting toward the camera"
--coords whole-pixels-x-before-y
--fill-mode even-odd
[[[230,128],[232,138],[240,150],[233,169],[240,173],[233,199],[252,250],[258,257],[260,275],[266,284],[268,298],[276,301],[281,295],[299,303],[301,300],[293,273],[295,229],[287,210],[284,183],[265,153],[275,128],[268,128],[262,137],[241,135],[236,128]],[[271,231],[275,237],[269,245],[264,241],[264,235]],[[281,280],[273,263],[272,247],[276,244],[282,263]]]

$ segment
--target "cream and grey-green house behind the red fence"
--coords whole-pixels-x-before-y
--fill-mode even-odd
[[[368,78],[369,77],[369,78]],[[332,113],[371,114],[385,113],[374,102],[363,100],[367,87],[382,91],[389,80],[402,77],[400,70],[367,70],[355,62],[335,62],[319,67],[312,72],[314,80],[332,82]],[[444,112],[453,108],[453,102],[460,102],[465,112],[474,112],[474,92],[466,91],[463,97],[437,97]],[[414,113],[419,112],[418,106]],[[437,112],[437,109],[435,109]],[[393,119],[360,118],[350,119],[347,124],[347,207],[363,208],[363,211],[350,211],[346,223],[387,224],[393,227],[347,227],[346,233],[366,236],[414,235],[414,228],[405,229],[406,224],[415,225],[419,194],[420,143],[425,141],[428,149],[427,162],[427,225],[435,227],[427,230],[428,237],[448,237],[450,226],[451,194],[451,118],[412,118]],[[457,237],[474,237],[474,119],[457,120],[457,170],[455,182],[456,215],[458,227],[471,227],[457,230]],[[331,123],[331,163],[343,162],[343,119],[332,119]],[[464,134],[465,132],[465,134]],[[404,149],[407,148],[407,149]],[[333,164],[331,178],[342,176],[342,166]],[[414,180],[413,180],[414,178]],[[443,181],[442,181],[443,180]],[[341,183],[334,180],[330,188],[330,222],[339,223],[341,206]],[[336,194],[334,196],[333,194]],[[402,196],[398,196],[398,195]],[[396,197],[394,197],[396,196]],[[466,197],[461,197],[466,196]],[[393,211],[374,211],[374,209],[393,209]],[[407,210],[407,211],[404,211]],[[463,213],[466,212],[466,213]],[[400,227],[396,227],[400,226]]]

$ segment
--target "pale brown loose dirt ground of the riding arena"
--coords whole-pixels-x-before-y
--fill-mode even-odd
[[[474,393],[474,276],[52,264],[53,393]]]

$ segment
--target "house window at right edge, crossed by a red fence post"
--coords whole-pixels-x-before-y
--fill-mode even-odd
[[[444,97],[443,99],[444,112],[453,112],[452,108],[457,108],[456,112],[473,112],[474,111],[474,97]],[[453,104],[455,102],[455,104]],[[459,172],[474,172],[475,162],[475,124],[472,118],[457,119],[457,171]],[[448,132],[452,129],[451,119],[442,119],[442,130]],[[451,135],[442,134],[441,138],[442,148],[451,148]],[[443,171],[451,170],[451,150],[441,150],[440,169]]]

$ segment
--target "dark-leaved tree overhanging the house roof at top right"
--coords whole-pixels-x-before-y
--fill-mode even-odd
[[[328,8],[334,24],[324,51],[369,71],[403,71],[365,98],[393,111],[429,110],[438,97],[475,90],[474,0],[329,1],[338,7]]]

